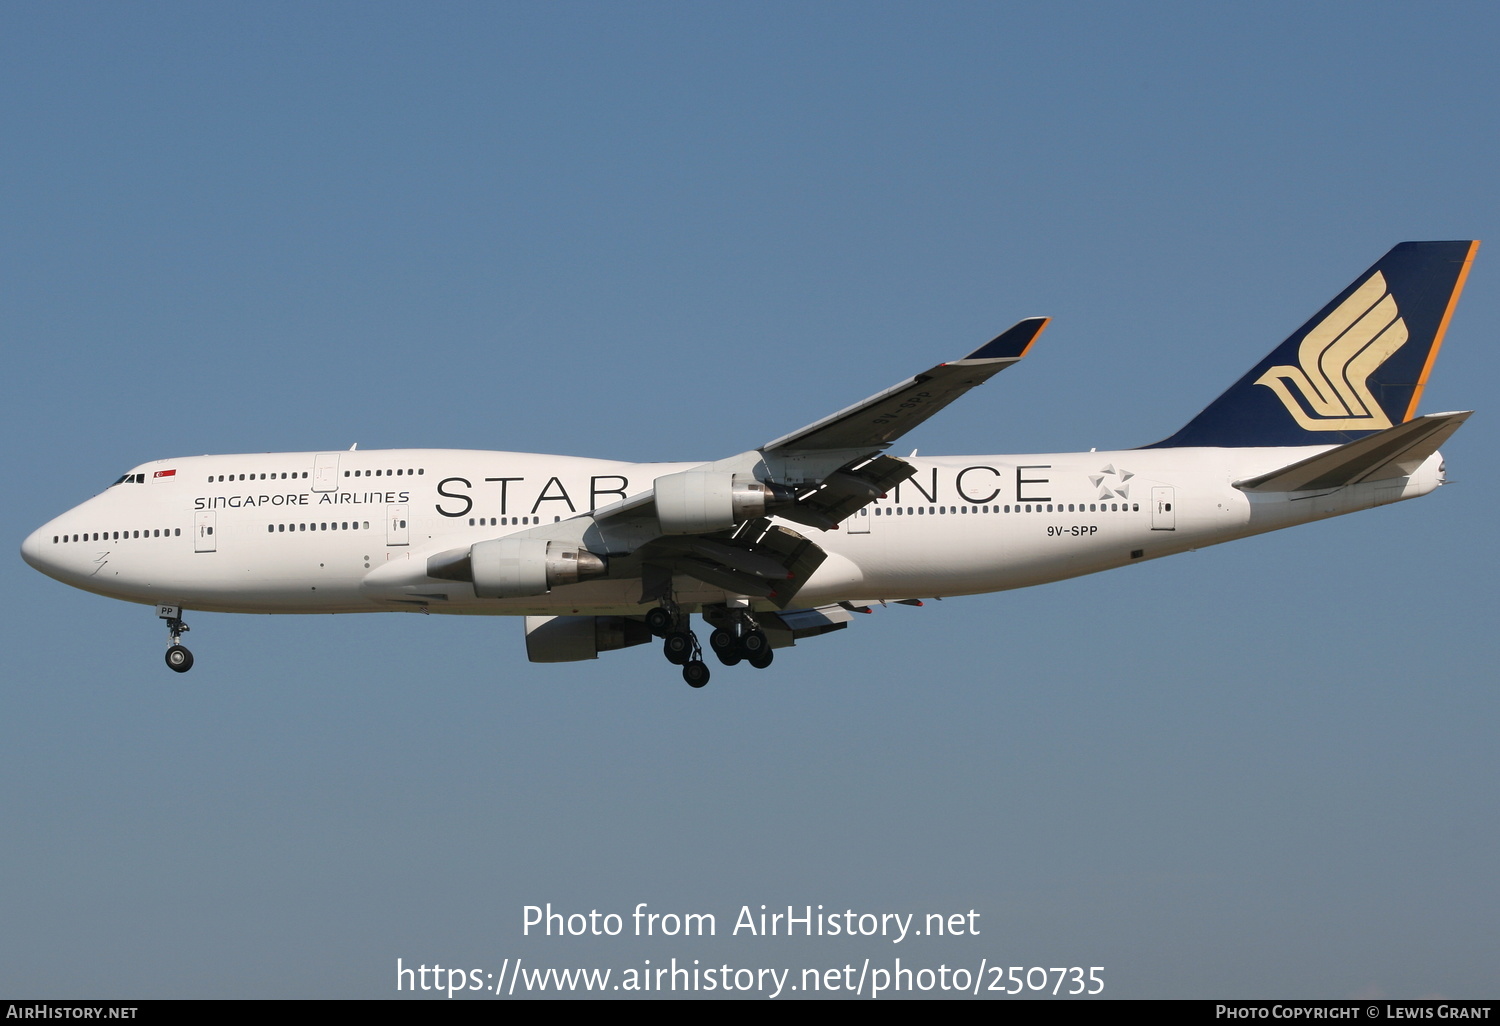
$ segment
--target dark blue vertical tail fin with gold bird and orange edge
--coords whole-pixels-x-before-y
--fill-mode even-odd
[[[1172,438],[1338,446],[1416,412],[1478,242],[1401,243]]]

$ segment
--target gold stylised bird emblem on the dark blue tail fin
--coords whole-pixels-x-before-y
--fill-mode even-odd
[[[1256,384],[1275,392],[1304,430],[1380,430],[1390,418],[1370,394],[1370,375],[1406,340],[1395,297],[1376,272],[1306,333],[1298,348],[1302,366],[1270,368]]]

